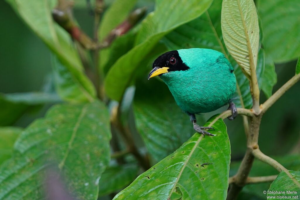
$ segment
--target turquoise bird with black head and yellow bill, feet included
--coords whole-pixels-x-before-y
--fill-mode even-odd
[[[205,131],[212,127],[196,124],[195,114],[215,111],[229,104],[233,120],[237,109],[232,102],[236,90],[234,68],[223,53],[204,48],[168,51],[153,62],[152,77],[160,77],[170,89],[177,105],[190,116],[196,132],[214,136]]]

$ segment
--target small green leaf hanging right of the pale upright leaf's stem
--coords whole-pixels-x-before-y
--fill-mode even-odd
[[[262,78],[262,91],[266,97],[269,98],[272,95],[273,86],[277,83],[277,74],[275,71],[275,65],[271,58],[265,59],[265,71]]]

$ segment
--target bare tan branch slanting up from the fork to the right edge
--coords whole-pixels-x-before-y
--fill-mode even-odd
[[[279,88],[265,103],[262,104],[262,113],[268,110],[288,89],[300,80],[300,73],[293,76],[281,88]]]

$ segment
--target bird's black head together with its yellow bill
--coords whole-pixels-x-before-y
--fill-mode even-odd
[[[150,72],[148,79],[169,71],[184,71],[189,69],[180,58],[177,50],[169,51],[159,56],[153,62],[152,68],[153,70]]]

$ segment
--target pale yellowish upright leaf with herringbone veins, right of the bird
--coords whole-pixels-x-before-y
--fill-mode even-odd
[[[247,77],[256,68],[259,25],[253,0],[224,0],[221,13],[225,45]]]

